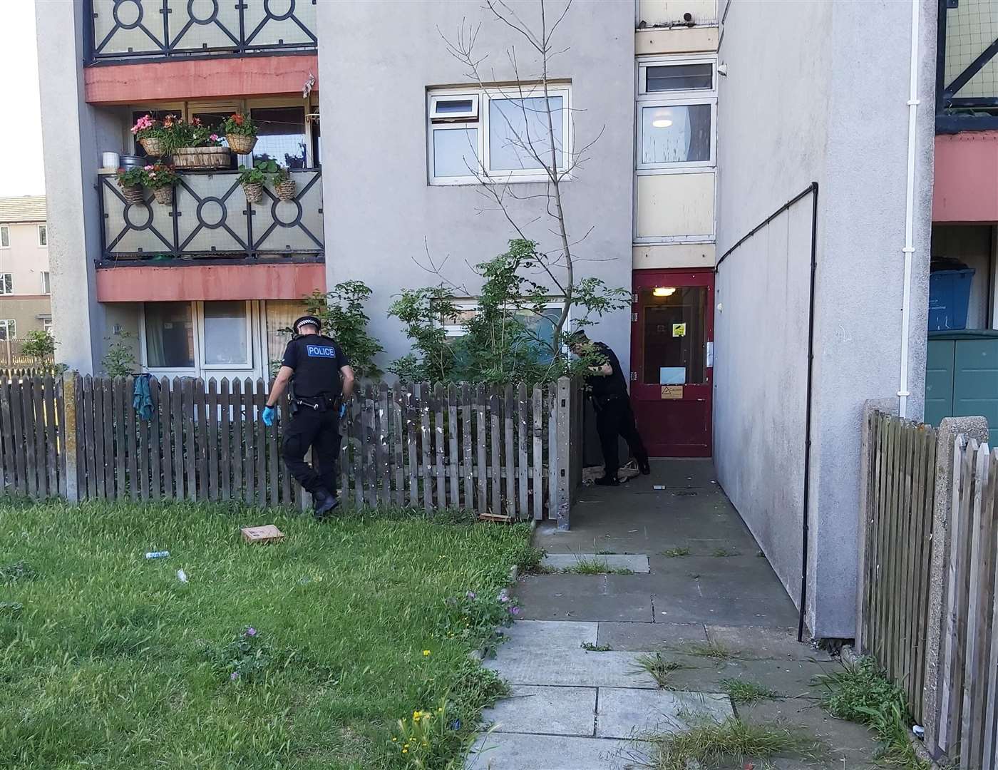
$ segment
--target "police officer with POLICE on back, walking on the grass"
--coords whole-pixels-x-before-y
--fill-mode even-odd
[[[284,350],[280,370],[263,409],[263,422],[273,424],[274,404],[288,383],[293,416],[284,428],[282,453],[287,469],[312,495],[315,517],[336,507],[336,458],[339,419],[344,398],[353,393],[353,370],[339,344],[319,334],[321,322],[302,316],[294,322],[294,337]],[[312,464],[304,460],[308,447]]]

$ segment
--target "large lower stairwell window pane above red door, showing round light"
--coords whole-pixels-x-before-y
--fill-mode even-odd
[[[642,163],[711,160],[711,105],[643,107]]]

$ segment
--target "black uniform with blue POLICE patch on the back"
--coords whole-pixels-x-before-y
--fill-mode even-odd
[[[343,392],[339,370],[349,363],[339,344],[321,335],[294,338],[280,361],[281,366],[294,370],[291,408],[296,409],[284,428],[284,462],[298,483],[313,494],[316,489],[325,489],[336,495]],[[311,465],[304,460],[309,446]]]

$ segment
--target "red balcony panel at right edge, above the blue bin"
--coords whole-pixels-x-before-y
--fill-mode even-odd
[[[998,222],[998,131],[939,134],[933,222]]]

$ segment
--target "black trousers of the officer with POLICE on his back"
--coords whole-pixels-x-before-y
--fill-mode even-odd
[[[308,492],[322,488],[336,494],[336,458],[339,456],[339,412],[316,411],[302,406],[284,428],[281,446],[284,463]],[[312,463],[305,452],[312,450]]]

